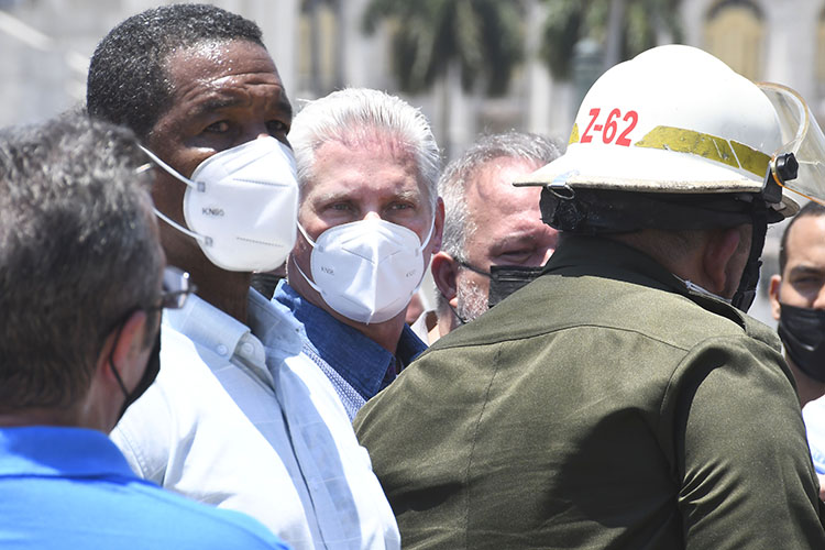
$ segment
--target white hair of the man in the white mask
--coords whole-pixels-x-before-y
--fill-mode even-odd
[[[431,209],[438,201],[441,155],[427,118],[403,99],[367,88],[346,88],[308,102],[293,121],[289,143],[295,151],[301,188],[314,177],[315,153],[327,142],[358,144],[388,134],[414,155],[419,183]]]

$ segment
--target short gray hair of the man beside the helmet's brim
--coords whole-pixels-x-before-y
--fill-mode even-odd
[[[466,241],[477,229],[466,206],[466,188],[477,172],[497,158],[522,158],[539,166],[558,158],[558,143],[539,134],[506,132],[485,135],[444,168],[438,191],[444,201],[444,233],[441,250],[466,262]]]

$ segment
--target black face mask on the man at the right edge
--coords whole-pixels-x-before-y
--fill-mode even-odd
[[[779,338],[803,373],[825,382],[825,310],[781,305]]]

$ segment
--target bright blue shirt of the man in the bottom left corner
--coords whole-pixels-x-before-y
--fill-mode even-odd
[[[102,433],[0,429],[0,548],[286,549],[262,525],[139,480]]]

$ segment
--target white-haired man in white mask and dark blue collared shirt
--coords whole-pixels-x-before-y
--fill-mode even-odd
[[[306,106],[289,141],[300,235],[274,299],[352,419],[426,349],[405,312],[441,244],[439,150],[419,110],[356,88]]]

